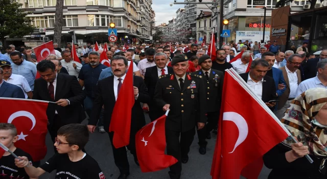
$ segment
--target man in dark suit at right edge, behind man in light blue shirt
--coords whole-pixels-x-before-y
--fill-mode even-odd
[[[318,61],[327,58],[327,49],[320,52],[320,56],[307,61],[303,67],[303,73],[305,74],[305,80],[317,76],[317,63]],[[304,81],[304,80],[302,80]]]

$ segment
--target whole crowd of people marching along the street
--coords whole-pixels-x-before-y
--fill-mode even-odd
[[[65,50],[54,44],[55,54],[41,61],[27,47],[17,51],[11,45],[5,54],[0,54],[0,97],[53,102],[49,103],[46,114],[56,151],[48,162],[40,165],[39,161],[33,161],[28,153],[14,146],[17,141],[15,126],[0,123],[0,142],[20,159],[5,152],[0,159],[1,165],[5,166],[1,166],[4,174],[15,170],[14,175],[20,178],[36,178],[44,172],[57,170],[56,178],[105,178],[98,163],[84,150],[88,131],[92,133],[98,127],[99,132],[109,135],[114,163],[120,170],[118,178],[127,178],[130,170],[126,147],[133,154],[135,164],[139,165],[135,135],[146,124],[144,112],[154,121],[170,110],[166,120],[167,154],[178,162],[170,166],[169,176],[180,178],[182,163],[189,161],[195,132],[200,154],[206,153],[206,140],[211,139],[211,132],[217,134],[224,73],[230,68],[240,74],[278,119],[297,129],[295,135],[299,141],[305,141],[306,146],[285,142],[289,145],[276,146],[265,154],[266,166],[273,169],[269,178],[301,173],[301,164],[307,162],[301,157],[307,153],[315,156],[314,161],[324,163],[326,149],[317,147],[317,143],[325,146],[326,142],[318,130],[321,133],[327,128],[327,114],[319,111],[327,110],[327,93],[320,89],[327,88],[327,50],[313,58],[308,55],[307,43],[294,53],[293,50],[281,52],[277,41],[271,45],[270,41],[264,45],[231,41],[217,49],[216,58],[212,59],[204,44],[133,44],[130,47],[110,44],[108,49],[100,44],[98,51],[94,47],[90,43],[83,47],[75,44],[81,63],[72,59],[71,43],[67,43]],[[100,62],[103,51],[110,67]],[[130,65],[133,65],[135,98],[131,109],[130,141],[126,147],[115,148],[114,133],[109,132],[109,126]],[[40,78],[36,78],[37,73]],[[312,88],[315,91],[308,91]],[[79,124],[86,115],[88,125]],[[303,119],[298,119],[299,116]],[[311,135],[305,131],[310,131]],[[310,166],[313,174],[307,173],[300,178],[320,178],[322,172],[319,169],[325,172],[321,166],[324,165]],[[6,178],[0,176],[3,177]]]

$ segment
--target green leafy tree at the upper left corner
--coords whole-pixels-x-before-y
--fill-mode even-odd
[[[19,9],[22,4],[14,0],[0,0],[0,40],[6,47],[5,37],[21,38],[34,31],[34,27],[29,25],[30,18],[26,17],[31,12]]]

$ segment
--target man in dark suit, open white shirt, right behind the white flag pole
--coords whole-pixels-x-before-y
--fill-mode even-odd
[[[273,110],[276,103],[269,103],[269,101],[277,98],[276,87],[274,79],[266,76],[268,66],[269,63],[266,60],[253,60],[250,66],[250,72],[240,74],[240,76],[253,89],[254,93],[261,97],[262,101]]]

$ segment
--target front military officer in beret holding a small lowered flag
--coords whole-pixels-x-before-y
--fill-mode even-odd
[[[160,76],[154,93],[158,106],[164,111],[170,110],[166,119],[167,153],[178,160],[170,167],[170,178],[180,178],[181,163],[189,161],[188,153],[195,135],[194,124],[202,129],[206,122],[204,80],[200,76],[186,74],[188,61],[186,55],[176,55],[171,62],[174,73]]]

